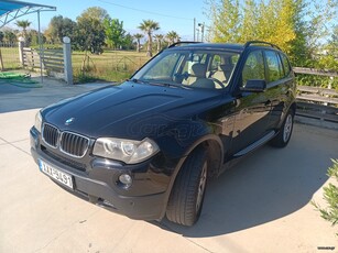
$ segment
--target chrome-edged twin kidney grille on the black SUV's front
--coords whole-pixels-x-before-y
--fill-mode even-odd
[[[77,158],[84,157],[89,146],[88,138],[68,131],[61,132],[48,123],[43,125],[42,139],[53,148],[58,147],[61,152]]]

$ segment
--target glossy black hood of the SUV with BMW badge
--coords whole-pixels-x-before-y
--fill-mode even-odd
[[[204,117],[221,96],[219,90],[124,81],[52,105],[42,116],[61,131],[142,140],[175,121]]]

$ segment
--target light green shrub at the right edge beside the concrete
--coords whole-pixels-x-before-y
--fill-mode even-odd
[[[332,160],[332,166],[328,168],[328,176],[338,183],[338,160]],[[328,204],[327,208],[319,207],[316,202],[312,202],[319,211],[320,216],[332,223],[338,224],[338,187],[331,183],[324,187],[324,199]],[[337,233],[338,235],[338,233]]]

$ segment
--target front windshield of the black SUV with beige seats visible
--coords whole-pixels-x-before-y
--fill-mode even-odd
[[[222,89],[228,86],[239,54],[219,51],[168,50],[143,68],[132,80],[152,85]]]

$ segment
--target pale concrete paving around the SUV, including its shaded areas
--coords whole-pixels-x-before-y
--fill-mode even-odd
[[[29,140],[37,108],[92,86],[63,87],[62,95],[54,86],[10,94],[2,91],[12,87],[3,87],[0,252],[323,252],[317,246],[338,251],[337,228],[309,204],[315,199],[324,205],[326,169],[330,158],[338,157],[337,131],[296,124],[286,148],[263,146],[210,182],[199,222],[183,228],[100,209],[39,172]]]

